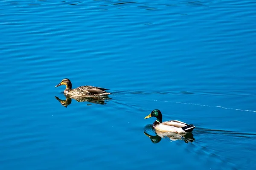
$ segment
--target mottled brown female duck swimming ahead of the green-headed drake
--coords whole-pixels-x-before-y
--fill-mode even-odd
[[[55,88],[60,85],[66,85],[64,94],[71,95],[71,96],[83,97],[83,96],[102,96],[102,95],[111,94],[111,93],[108,93],[105,91],[108,89],[94,87],[94,86],[90,86],[90,85],[80,86],[78,88],[72,89],[72,84],[69,79],[63,79],[58,85],[55,86]]]

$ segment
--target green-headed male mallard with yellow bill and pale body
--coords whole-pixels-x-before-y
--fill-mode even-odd
[[[188,125],[178,120],[170,120],[167,122],[162,122],[162,113],[158,109],[153,110],[144,119],[148,119],[150,117],[157,118],[157,120],[153,123],[153,127],[155,130],[158,130],[160,132],[186,133],[186,132],[192,132],[192,130],[195,128],[194,125]]]

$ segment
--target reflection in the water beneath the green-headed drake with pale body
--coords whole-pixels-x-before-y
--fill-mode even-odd
[[[193,142],[195,140],[192,133],[157,133],[156,136],[149,135],[146,132],[144,132],[144,134],[148,136],[153,143],[160,142],[162,138],[169,138],[171,141],[183,140],[185,143]]]

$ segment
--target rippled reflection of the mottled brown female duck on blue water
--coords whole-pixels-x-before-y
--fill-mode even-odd
[[[71,104],[72,99],[76,100],[77,102],[90,102],[90,103],[95,103],[95,104],[100,104],[100,105],[106,105],[107,103],[105,101],[111,100],[110,97],[108,96],[90,96],[90,97],[73,97],[73,96],[67,96],[65,100],[61,100],[57,96],[55,96],[55,99],[57,99],[61,105],[67,108],[68,105]],[[87,104],[91,105],[91,104]]]

